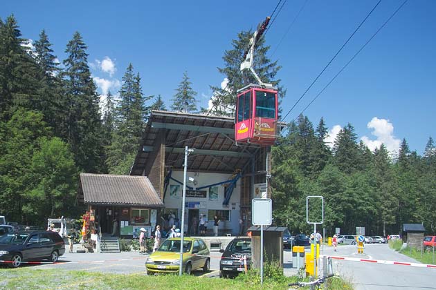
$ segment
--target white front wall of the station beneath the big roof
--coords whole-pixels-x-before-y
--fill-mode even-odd
[[[218,173],[194,173],[188,171],[188,177],[193,177],[197,182],[197,189],[201,186],[208,186],[210,184],[215,184],[218,182],[224,182],[226,180],[231,179],[231,174],[218,174]],[[183,171],[173,171],[172,177],[179,182],[183,183]],[[187,181],[189,180],[187,177]],[[183,186],[179,186],[178,195],[174,196],[170,194],[172,185],[179,185],[174,180],[170,180],[170,184],[167,187],[167,192],[165,194],[165,200],[163,203],[165,204],[165,208],[167,209],[179,209],[179,219],[181,219],[181,203],[182,203],[182,192]],[[187,183],[188,186],[194,187],[192,182]],[[228,207],[223,206],[224,202],[224,186],[217,185],[218,188],[218,198],[217,200],[210,200],[209,188],[201,189],[201,191],[206,191],[206,198],[202,197],[186,197],[185,202],[200,202],[199,205],[199,213],[206,214],[208,216],[208,210],[230,210],[230,221],[229,222],[220,222],[219,229],[229,229],[229,232],[233,235],[237,234],[239,231],[239,202],[240,202],[240,180],[238,180],[235,189],[233,189],[233,194],[230,197],[230,201],[228,202]],[[188,209],[185,209],[185,212],[188,213]],[[185,215],[185,224],[188,224],[187,215]],[[213,229],[213,220],[208,221],[208,229]]]

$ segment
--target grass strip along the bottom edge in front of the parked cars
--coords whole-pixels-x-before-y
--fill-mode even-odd
[[[237,279],[201,278],[194,276],[146,276],[140,274],[108,274],[57,269],[0,269],[0,289],[152,289],[152,290],[247,290],[288,289],[296,277],[284,279],[265,278],[263,287],[260,278]],[[257,276],[258,277],[258,276]],[[341,278],[329,278],[329,289],[352,290],[352,285]]]

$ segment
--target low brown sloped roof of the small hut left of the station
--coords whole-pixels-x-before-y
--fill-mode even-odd
[[[85,204],[163,206],[145,176],[80,173]]]

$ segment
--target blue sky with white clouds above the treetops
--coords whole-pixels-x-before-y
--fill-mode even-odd
[[[212,95],[209,86],[219,86],[224,79],[217,67],[224,66],[222,57],[232,48],[232,39],[255,28],[278,3],[160,2],[3,1],[0,17],[14,14],[28,39],[38,39],[44,28],[60,61],[66,43],[79,31],[89,48],[100,93],[108,88],[117,93],[131,63],[142,77],[144,94],[160,94],[167,107],[187,71],[200,106],[206,107]],[[278,78],[287,88],[283,112],[295,104],[377,2],[286,1],[266,33],[269,57],[282,66]],[[381,1],[285,121],[298,116],[402,2]],[[422,155],[428,137],[436,138],[435,14],[436,1],[408,1],[305,115],[315,126],[324,117],[332,136],[349,122],[370,148],[383,142],[395,151],[406,138],[410,149]]]

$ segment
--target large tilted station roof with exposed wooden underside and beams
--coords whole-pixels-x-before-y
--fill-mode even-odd
[[[190,171],[233,173],[260,148],[257,144],[235,144],[233,117],[153,110],[130,175],[143,174],[162,138],[165,166],[169,168],[183,169],[185,146],[194,149],[188,157]]]

